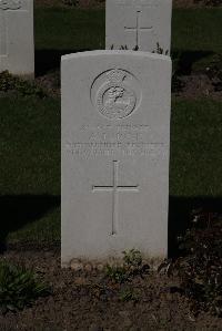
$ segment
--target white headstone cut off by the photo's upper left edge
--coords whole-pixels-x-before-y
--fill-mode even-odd
[[[0,72],[34,73],[33,0],[0,0]]]

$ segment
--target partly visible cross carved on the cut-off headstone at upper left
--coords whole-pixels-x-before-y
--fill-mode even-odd
[[[21,0],[0,0],[0,55],[7,55],[7,12],[21,8]]]

